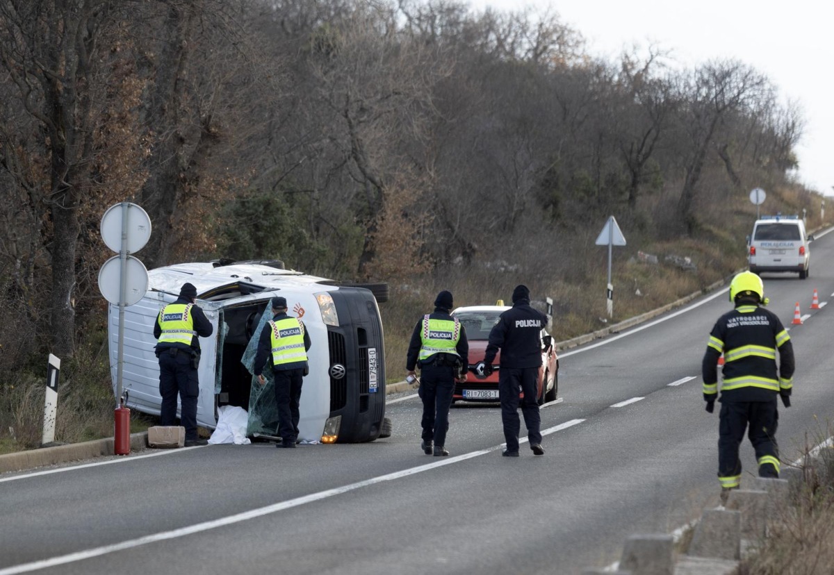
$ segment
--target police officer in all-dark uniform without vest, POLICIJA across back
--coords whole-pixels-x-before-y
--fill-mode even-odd
[[[519,403],[527,438],[534,455],[544,455],[541,447],[541,418],[538,403],[539,368],[541,367],[541,330],[547,325],[547,316],[530,308],[530,290],[516,286],[513,290],[513,307],[501,314],[490,332],[486,347],[483,373],[490,375],[495,355],[501,350],[498,372],[498,393],[501,401],[501,421],[507,448],[505,457],[519,456]],[[520,398],[524,392],[524,398]]]

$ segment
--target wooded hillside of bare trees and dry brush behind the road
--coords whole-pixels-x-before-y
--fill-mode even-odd
[[[821,223],[796,178],[799,107],[745,62],[590,57],[557,13],[443,0],[0,3],[0,443],[37,444],[48,353],[61,441],[112,433],[113,203],[148,268],[279,258],[386,282],[389,380],[435,294],[555,300],[557,340],[745,263],[765,213]],[[615,216],[614,317],[607,250]],[[71,408],[66,406],[70,405]],[[98,417],[101,416],[101,417]]]

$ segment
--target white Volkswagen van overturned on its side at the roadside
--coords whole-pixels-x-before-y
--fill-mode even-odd
[[[299,440],[360,443],[389,437],[385,418],[385,368],[380,302],[386,284],[345,285],[294,270],[283,263],[181,263],[148,272],[148,291],[124,308],[122,388],[125,405],[158,415],[159,368],[153,324],[178,298],[183,283],[197,288],[197,304],[214,333],[199,338],[197,423],[215,428],[223,406],[248,413],[247,436],[277,435],[278,412],[270,381],[252,374],[260,328],[272,319],[270,300],[283,296],[288,315],[299,318],[311,346],[309,374],[299,406]],[[118,306],[108,318],[110,371],[118,393]],[[269,360],[268,360],[269,362]]]

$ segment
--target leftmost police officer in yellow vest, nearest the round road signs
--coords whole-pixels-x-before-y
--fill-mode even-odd
[[[159,310],[153,324],[153,337],[158,340],[155,351],[159,360],[159,394],[162,396],[159,423],[164,426],[176,423],[179,395],[182,407],[179,419],[185,428],[185,446],[188,448],[208,443],[197,435],[198,336],[208,338],[214,328],[203,310],[194,304],[196,300],[197,288],[183,283],[177,300]]]

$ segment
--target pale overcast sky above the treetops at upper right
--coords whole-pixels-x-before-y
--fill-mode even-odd
[[[797,102],[806,126],[798,178],[834,195],[834,4],[826,0],[469,0],[477,11],[550,8],[585,37],[588,51],[617,59],[624,47],[655,43],[694,66],[735,58]]]

